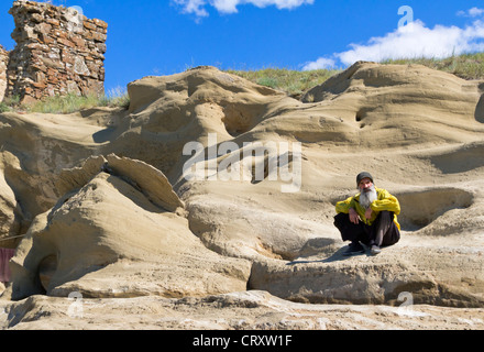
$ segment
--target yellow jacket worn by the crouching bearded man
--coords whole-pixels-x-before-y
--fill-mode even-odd
[[[349,213],[350,208],[353,208],[354,210],[356,210],[358,215],[360,216],[361,221],[371,226],[373,221],[375,221],[380,211],[385,211],[385,210],[393,211],[394,222],[398,227],[398,230],[400,230],[400,224],[398,223],[397,220],[397,215],[400,213],[400,204],[398,202],[398,199],[392,196],[387,190],[383,188],[375,187],[375,190],[377,194],[377,198],[370,206],[373,210],[371,219],[365,218],[366,209],[362,205],[360,205],[360,194],[358,194],[354,197],[350,197],[346,200],[337,202],[337,212]]]

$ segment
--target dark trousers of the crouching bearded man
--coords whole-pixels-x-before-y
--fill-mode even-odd
[[[381,211],[372,226],[367,226],[361,220],[355,224],[350,221],[348,213],[340,212],[334,217],[334,226],[340,230],[343,241],[360,241],[366,245],[388,246],[400,240],[400,231],[393,219],[393,212]]]

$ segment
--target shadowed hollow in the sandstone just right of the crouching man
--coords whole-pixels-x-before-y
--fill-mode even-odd
[[[447,211],[466,209],[473,202],[472,194],[457,188],[409,191],[396,197],[402,208],[398,222],[407,231],[422,229]]]

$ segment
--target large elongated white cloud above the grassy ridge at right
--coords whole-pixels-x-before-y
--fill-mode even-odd
[[[327,68],[324,66],[331,61],[352,65],[358,61],[444,58],[481,52],[484,51],[484,22],[476,20],[465,28],[436,25],[429,29],[424,22],[416,20],[384,36],[372,37],[366,44],[350,44],[350,47],[349,51],[307,63],[302,69]]]

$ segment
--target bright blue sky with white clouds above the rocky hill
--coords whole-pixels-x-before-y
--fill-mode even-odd
[[[12,1],[0,2],[0,44],[12,50]],[[483,0],[52,2],[108,22],[107,90],[199,65],[342,68],[358,59],[484,52]]]

